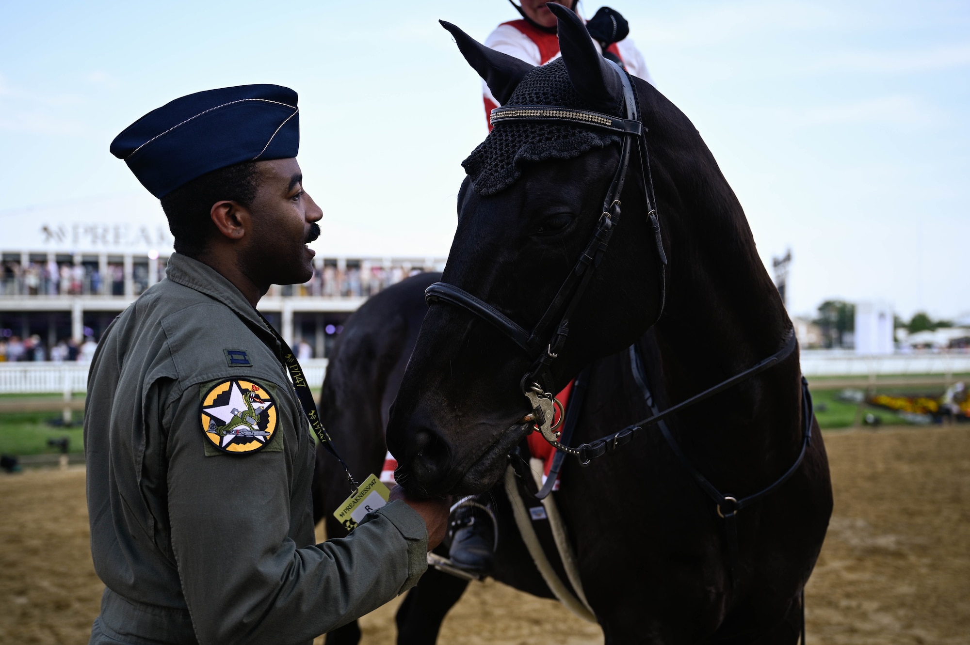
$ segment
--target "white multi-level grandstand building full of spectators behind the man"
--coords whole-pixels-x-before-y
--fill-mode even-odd
[[[73,359],[93,348],[115,316],[165,278],[173,253],[157,201],[136,196],[0,212],[0,231],[0,360]],[[307,284],[274,286],[259,309],[302,357],[325,357],[369,296],[443,265],[318,251]]]

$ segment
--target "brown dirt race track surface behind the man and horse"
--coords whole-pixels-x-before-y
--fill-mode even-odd
[[[970,428],[828,433],[825,443],[835,513],[807,588],[809,643],[970,644]],[[0,476],[0,642],[86,643],[101,590],[84,471]],[[396,607],[362,619],[364,643],[394,642]],[[553,601],[488,582],[469,587],[439,642],[602,638]]]

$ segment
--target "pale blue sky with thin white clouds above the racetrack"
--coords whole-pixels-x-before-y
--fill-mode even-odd
[[[762,259],[792,250],[793,315],[829,298],[970,312],[970,3],[610,6]],[[516,17],[503,0],[0,0],[0,212],[147,196],[108,152],[118,132],[184,94],[272,82],[300,94],[317,247],[443,256],[486,125],[480,80],[436,20],[481,41]]]

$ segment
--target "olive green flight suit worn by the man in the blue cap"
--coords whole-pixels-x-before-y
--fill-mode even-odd
[[[314,544],[314,442],[278,353],[242,293],[179,254],[108,328],[84,411],[91,553],[106,586],[91,643],[308,643],[424,573],[427,530],[403,502]],[[254,400],[275,406],[275,432],[249,454],[213,445],[200,414],[202,395],[234,379],[261,384]]]

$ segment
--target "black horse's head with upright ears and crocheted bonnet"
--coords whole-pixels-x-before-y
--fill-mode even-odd
[[[580,115],[570,118],[605,114],[624,121],[632,96],[629,87],[625,94],[625,73],[598,53],[575,14],[550,7],[559,17],[562,59],[542,67],[442,25],[503,107],[558,107]],[[648,83],[630,80],[639,109],[645,96],[657,102]],[[584,365],[630,346],[663,306],[665,259],[645,148],[636,137],[575,120],[494,115],[493,122],[464,163],[469,176],[458,195],[458,228],[442,282],[487,303],[530,339],[516,342],[496,316],[455,306],[448,292],[430,297],[387,429],[398,481],[418,495],[491,487],[533,427],[524,395],[532,382],[559,391]],[[604,202],[611,191],[616,200]],[[604,234],[608,249],[599,253]],[[584,255],[589,261],[580,267]]]

